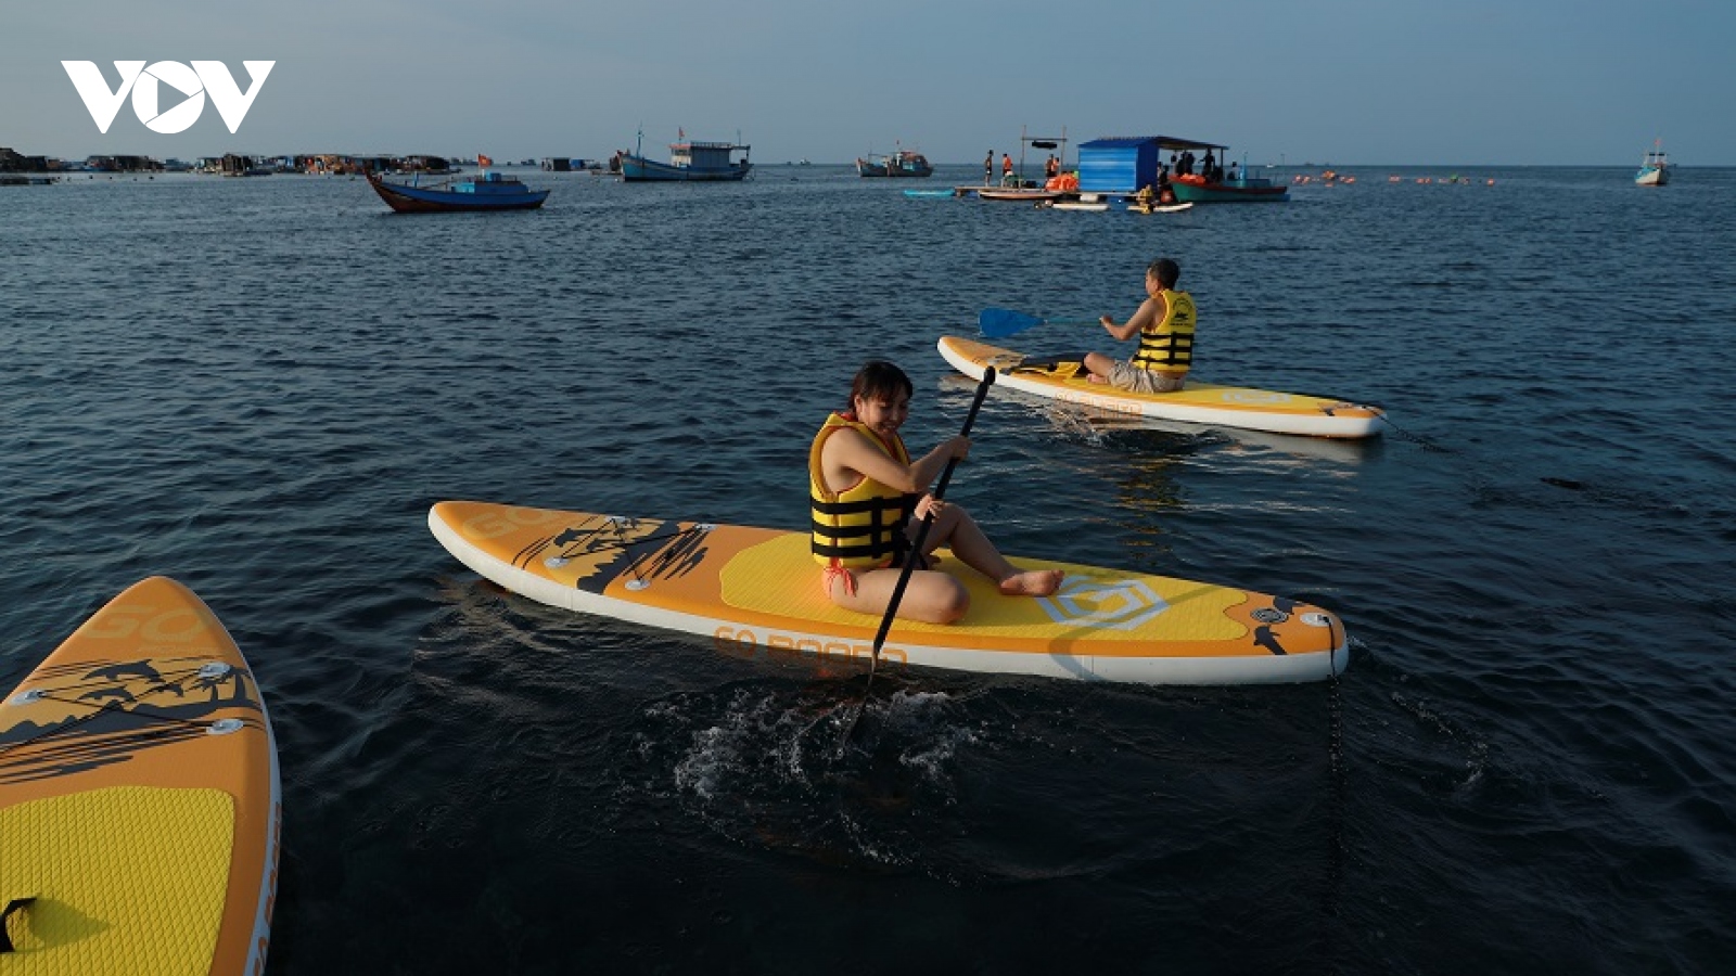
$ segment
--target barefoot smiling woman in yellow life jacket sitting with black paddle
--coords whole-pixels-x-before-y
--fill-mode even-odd
[[[1002,557],[969,512],[925,493],[948,460],[970,453],[970,438],[950,438],[910,460],[898,429],[910,417],[913,389],[910,377],[892,363],[870,361],[851,384],[849,410],[826,417],[809,448],[811,547],[825,566],[826,596],[845,610],[885,613],[899,570],[911,557],[918,519],[929,512],[934,524],[915,556],[918,563],[898,617],[953,623],[970,608],[963,584],[929,568],[939,545],[950,545],[965,566],[995,580],[1007,596],[1055,592],[1061,570],[1019,570]]]

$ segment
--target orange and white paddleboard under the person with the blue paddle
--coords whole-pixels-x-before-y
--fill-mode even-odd
[[[1311,438],[1371,438],[1380,432],[1380,408],[1344,399],[1203,384],[1191,379],[1175,392],[1128,392],[1090,382],[1078,361],[1045,361],[1028,366],[1029,356],[1023,353],[957,335],[943,335],[939,349],[941,356],[967,377],[977,379],[984,368],[993,366],[1000,373],[995,386],[1116,413]]]

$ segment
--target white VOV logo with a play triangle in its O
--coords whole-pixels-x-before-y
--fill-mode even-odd
[[[158,61],[149,68],[144,66],[144,61],[116,61],[120,87],[115,90],[109,90],[108,82],[102,80],[102,69],[97,68],[95,61],[61,63],[73,80],[73,87],[78,89],[78,97],[85,99],[85,108],[90,109],[90,120],[97,123],[99,132],[108,132],[115,113],[120,111],[120,102],[127,101],[127,94],[132,92],[132,111],[139,122],[151,132],[163,135],[186,132],[198,122],[200,113],[205,111],[207,94],[217,104],[229,132],[241,129],[247,109],[253,108],[253,97],[259,96],[259,89],[266,83],[266,75],[271,75],[271,66],[276,61],[243,61],[241,64],[250,80],[247,92],[234,83],[234,76],[229,75],[222,61],[194,61],[193,68],[179,61]],[[158,111],[158,89],[161,85],[181,92],[186,101],[167,111]]]

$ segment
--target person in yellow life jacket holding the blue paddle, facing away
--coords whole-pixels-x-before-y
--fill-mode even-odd
[[[1085,368],[1090,382],[1106,382],[1130,392],[1174,392],[1182,389],[1193,366],[1194,304],[1193,295],[1177,292],[1175,281],[1182,269],[1168,257],[1160,257],[1146,267],[1146,300],[1121,325],[1102,316],[1109,335],[1127,340],[1139,337],[1139,349],[1130,359],[1111,359],[1102,353],[1087,353]]]

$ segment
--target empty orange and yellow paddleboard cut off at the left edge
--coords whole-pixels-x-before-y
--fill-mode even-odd
[[[281,823],[241,651],[132,585],[0,702],[0,973],[262,973]]]

